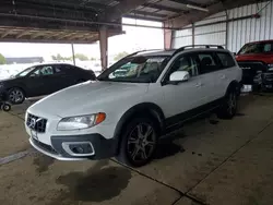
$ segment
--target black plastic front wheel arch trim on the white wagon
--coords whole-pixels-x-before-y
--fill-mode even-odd
[[[117,144],[117,152],[120,148],[121,143],[121,133],[126,125],[130,122],[130,120],[138,116],[149,116],[153,120],[156,121],[159,132],[164,132],[165,130],[165,114],[159,106],[153,102],[142,102],[131,107],[127,110],[122,117],[120,118],[117,126],[115,129],[114,137],[116,138]]]

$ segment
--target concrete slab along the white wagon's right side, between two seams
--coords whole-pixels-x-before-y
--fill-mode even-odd
[[[163,144],[165,156],[139,171],[188,193],[271,122],[273,104],[268,100],[273,102],[249,96],[233,120],[201,119],[186,125],[180,138]]]

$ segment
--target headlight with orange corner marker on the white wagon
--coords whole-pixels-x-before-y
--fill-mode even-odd
[[[103,112],[87,114],[87,116],[63,118],[58,123],[57,130],[69,131],[69,130],[88,129],[102,123],[105,119],[106,114]]]

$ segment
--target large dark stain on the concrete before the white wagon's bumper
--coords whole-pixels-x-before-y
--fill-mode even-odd
[[[123,167],[109,167],[108,160],[100,160],[85,172],[70,172],[60,176],[56,182],[67,189],[57,193],[49,205],[71,205],[81,202],[103,202],[118,196],[131,179],[131,172]]]

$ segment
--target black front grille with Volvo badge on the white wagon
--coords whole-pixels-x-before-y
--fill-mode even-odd
[[[26,125],[38,133],[45,133],[47,119],[27,113]]]

